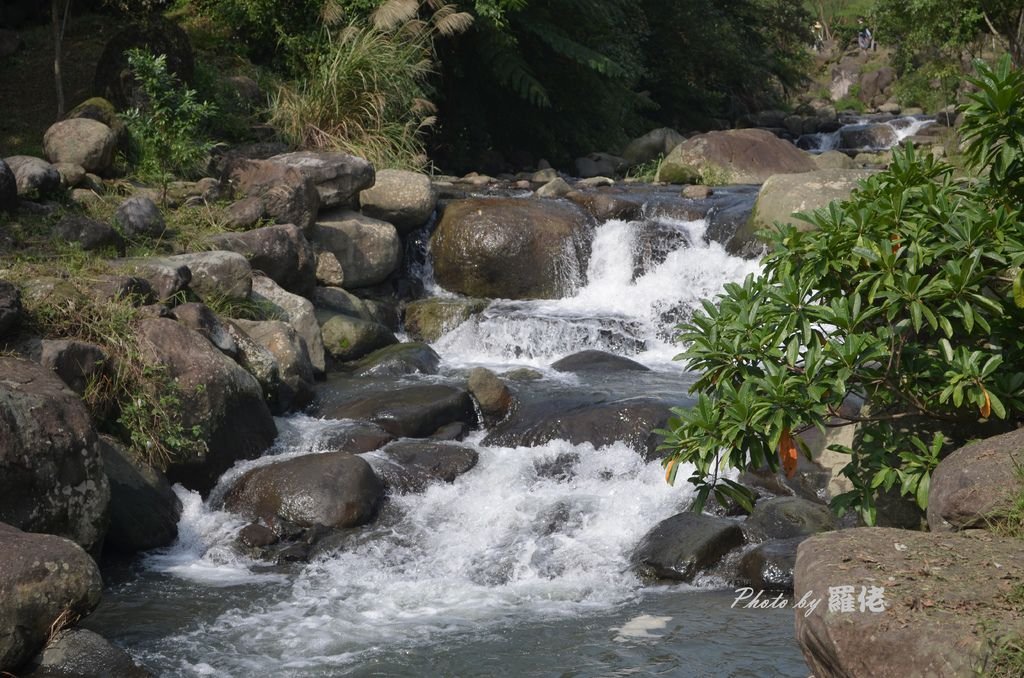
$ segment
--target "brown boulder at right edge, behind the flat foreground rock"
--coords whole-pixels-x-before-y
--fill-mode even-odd
[[[1024,429],[972,442],[932,472],[928,527],[934,533],[1006,522],[1024,490]]]

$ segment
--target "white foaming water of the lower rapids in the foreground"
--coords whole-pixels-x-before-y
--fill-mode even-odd
[[[401,514],[394,529],[377,527],[373,539],[307,565],[276,595],[186,627],[152,649],[202,656],[182,664],[185,675],[281,675],[346,666],[385,647],[607,610],[639,595],[629,563],[636,543],[692,499],[687,485],[669,486],[657,462],[623,443],[478,452],[477,466],[454,483],[392,498]],[[545,474],[555,463],[559,473]],[[151,556],[151,567],[203,586],[281,584],[228,555],[243,521],[191,493],[182,499],[182,537]]]

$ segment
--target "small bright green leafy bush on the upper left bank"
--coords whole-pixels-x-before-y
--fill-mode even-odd
[[[145,101],[125,114],[135,172],[165,187],[174,176],[195,177],[214,146],[203,134],[215,113],[213,104],[199,101],[195,90],[183,87],[167,71],[164,54],[133,49],[128,63]]]

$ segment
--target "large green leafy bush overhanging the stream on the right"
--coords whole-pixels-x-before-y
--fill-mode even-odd
[[[760,276],[679,326],[697,402],[663,449],[670,481],[695,466],[695,508],[712,492],[752,503],[723,467],[792,473],[800,432],[858,425],[853,449],[831,448],[853,485],[833,506],[871,524],[879,494],[926,507],[944,452],[1024,414],[1024,74],[1006,59],[979,73],[963,126],[973,178],[906,146],[848,201],[802,215],[813,230],[774,231]]]

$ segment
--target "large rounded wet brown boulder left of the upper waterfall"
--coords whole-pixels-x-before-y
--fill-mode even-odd
[[[430,240],[434,276],[469,297],[557,299],[590,256],[590,217],[572,203],[508,198],[449,204]]]

